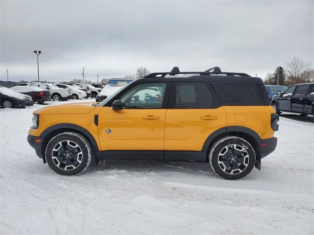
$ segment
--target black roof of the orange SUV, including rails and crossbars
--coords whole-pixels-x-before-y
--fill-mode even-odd
[[[210,70],[213,70],[210,72]],[[153,72],[148,74],[141,81],[209,81],[221,82],[224,84],[261,84],[260,77],[251,77],[241,72],[222,72],[219,67],[211,68],[200,72],[181,72],[175,67],[170,72]]]

